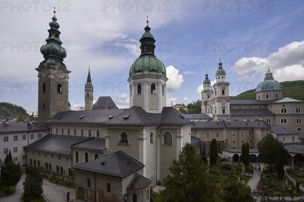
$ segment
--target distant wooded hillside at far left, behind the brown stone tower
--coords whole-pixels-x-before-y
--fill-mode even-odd
[[[29,117],[26,110],[23,107],[13,105],[11,103],[0,103],[0,120],[9,119],[12,120],[15,116],[22,114],[24,117]]]

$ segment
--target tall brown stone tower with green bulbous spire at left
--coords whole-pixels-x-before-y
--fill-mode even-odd
[[[68,74],[63,59],[66,51],[61,46],[59,24],[55,16],[49,23],[47,44],[40,48],[44,61],[36,68],[38,72],[38,120],[46,122],[60,111],[68,111]]]

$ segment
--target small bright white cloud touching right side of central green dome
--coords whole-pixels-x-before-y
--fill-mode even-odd
[[[167,92],[177,91],[183,82],[183,78],[181,74],[178,74],[179,71],[172,65],[166,68],[167,71]]]

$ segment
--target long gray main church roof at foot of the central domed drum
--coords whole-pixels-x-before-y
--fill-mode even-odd
[[[58,112],[47,123],[93,123],[101,125],[188,125],[191,121],[172,107],[164,107],[161,114],[146,113],[141,107]]]

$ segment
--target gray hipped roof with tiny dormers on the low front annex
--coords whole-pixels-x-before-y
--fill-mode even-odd
[[[74,166],[74,169],[124,178],[143,167],[142,163],[119,150],[116,153]]]

